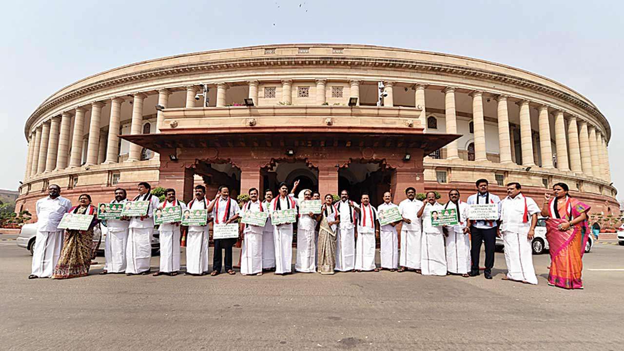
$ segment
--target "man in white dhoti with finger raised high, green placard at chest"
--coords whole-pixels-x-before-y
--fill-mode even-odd
[[[298,185],[298,181],[295,182]],[[271,210],[296,209],[296,199],[288,195],[288,185],[281,183],[280,195],[271,201]],[[274,224],[275,274],[290,274],[293,260],[293,224]]]

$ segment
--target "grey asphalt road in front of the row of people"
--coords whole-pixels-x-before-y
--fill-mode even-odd
[[[501,280],[499,253],[493,280],[126,277],[97,275],[101,264],[79,279],[28,280],[29,252],[1,238],[3,350],[624,349],[624,247],[613,242],[585,255],[585,289],[568,291],[547,286],[548,255],[534,256],[539,285]]]

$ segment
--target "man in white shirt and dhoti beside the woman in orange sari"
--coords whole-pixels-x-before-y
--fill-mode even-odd
[[[507,262],[507,276],[503,279],[537,284],[531,241],[535,235],[537,214],[541,211],[533,199],[522,195],[520,189],[518,182],[507,184],[507,197],[499,207],[500,232]]]

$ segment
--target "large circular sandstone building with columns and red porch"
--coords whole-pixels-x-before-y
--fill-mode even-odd
[[[611,129],[591,101],[537,74],[436,52],[286,44],[138,62],[52,94],[24,134],[16,210],[32,213],[49,184],[72,202],[109,202],[140,181],[190,200],[196,184],[212,197],[222,184],[236,195],[300,179],[300,189],[366,191],[378,205],[408,186],[466,199],[479,178],[499,195],[518,181],[539,203],[565,182],[594,212],[619,212]]]

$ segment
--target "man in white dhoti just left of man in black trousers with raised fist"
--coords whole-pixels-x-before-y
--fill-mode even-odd
[[[188,202],[189,210],[208,208],[206,187],[195,185],[195,197]],[[187,272],[184,275],[208,274],[208,220],[206,225],[189,225],[187,234]]]

